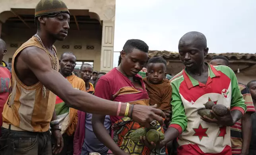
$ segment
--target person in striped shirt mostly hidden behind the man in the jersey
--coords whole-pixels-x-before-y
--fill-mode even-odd
[[[229,66],[229,60],[222,55],[217,55],[211,59],[210,64]],[[251,114],[255,112],[255,108],[249,89],[242,83],[238,85],[245,100],[244,103],[246,104],[247,110],[242,119],[239,119],[235,125],[230,127],[231,147],[233,155],[247,155],[252,134]]]

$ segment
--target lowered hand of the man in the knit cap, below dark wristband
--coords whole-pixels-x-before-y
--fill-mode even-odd
[[[63,145],[64,145],[63,138],[60,133],[60,130],[52,129],[51,132],[52,132],[52,136],[54,138],[54,145],[52,147],[52,153],[56,155],[56,154],[60,153],[63,149]]]

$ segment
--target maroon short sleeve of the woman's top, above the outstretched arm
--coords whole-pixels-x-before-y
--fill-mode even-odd
[[[94,95],[106,100],[112,100],[111,86],[105,79],[99,79],[95,87]]]

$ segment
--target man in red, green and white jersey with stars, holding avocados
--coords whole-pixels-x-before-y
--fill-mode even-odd
[[[188,32],[178,44],[185,69],[170,82],[172,125],[183,131],[178,136],[178,155],[231,155],[230,127],[246,111],[237,78],[227,66],[204,62],[207,41],[200,32]],[[225,116],[200,117],[198,110],[208,101],[228,107]]]

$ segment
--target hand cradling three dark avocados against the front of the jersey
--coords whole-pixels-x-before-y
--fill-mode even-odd
[[[219,125],[223,125],[227,127],[231,127],[232,125],[235,124],[235,121],[230,111],[230,107],[227,108],[227,114],[225,116],[218,116],[212,110],[211,110],[211,113],[214,115],[215,118],[211,119],[207,116],[203,116],[201,117],[201,119],[208,123],[217,123]]]

